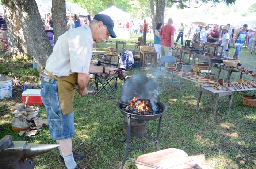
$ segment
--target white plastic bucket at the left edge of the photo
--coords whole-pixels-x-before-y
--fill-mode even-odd
[[[0,99],[12,97],[12,78],[0,77]]]

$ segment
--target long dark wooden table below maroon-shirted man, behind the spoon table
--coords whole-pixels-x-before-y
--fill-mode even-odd
[[[219,58],[219,57],[210,57],[208,55],[203,55],[203,54],[193,54],[193,64],[195,63],[196,58],[199,60],[204,60],[207,61],[209,64],[208,67],[208,71],[207,71],[207,77],[209,77],[209,71],[211,69],[211,67],[213,66],[213,63],[223,63],[223,60],[228,60],[228,59],[224,59],[224,58]],[[230,58],[229,60],[236,60],[233,58]]]

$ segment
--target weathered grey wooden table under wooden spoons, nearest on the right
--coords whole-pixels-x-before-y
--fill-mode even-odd
[[[202,93],[204,92],[204,93],[210,94],[212,96],[212,98],[211,98],[211,106],[210,107],[213,108],[212,120],[214,120],[219,97],[229,96],[228,112],[227,112],[227,116],[228,116],[229,112],[230,112],[230,108],[231,108],[232,99],[233,99],[233,93],[235,91],[256,90],[256,88],[248,88],[248,87],[245,87],[245,89],[238,89],[238,90],[234,90],[232,87],[229,87],[229,89],[231,91],[226,91],[225,87],[221,87],[221,90],[217,90],[217,89],[214,89],[213,87],[199,86],[199,94],[198,94],[198,100],[197,100],[197,105],[196,105],[196,109],[195,110],[198,111],[198,107],[199,107],[200,99],[202,97]]]

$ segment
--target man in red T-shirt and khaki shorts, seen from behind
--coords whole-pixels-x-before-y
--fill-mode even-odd
[[[161,56],[171,56],[174,44],[175,28],[172,26],[172,18],[168,19],[167,25],[161,28],[159,35],[161,36]],[[165,63],[165,67],[168,63]]]

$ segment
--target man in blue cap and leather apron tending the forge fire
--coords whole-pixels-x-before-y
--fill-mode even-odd
[[[84,157],[83,152],[72,151],[72,137],[75,135],[74,86],[78,93],[88,94],[87,83],[90,73],[113,75],[116,68],[99,67],[90,64],[94,42],[106,42],[109,36],[116,38],[114,22],[104,14],[81,27],[69,30],[59,36],[53,53],[46,62],[41,78],[41,99],[46,108],[51,139],[60,144],[60,164],[67,169],[79,169],[75,161]]]

